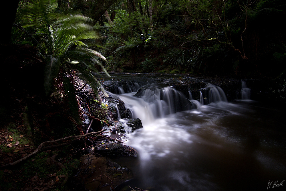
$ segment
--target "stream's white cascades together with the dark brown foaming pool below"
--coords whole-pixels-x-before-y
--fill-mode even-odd
[[[244,100],[228,102],[223,90],[207,84],[209,104],[183,95],[172,86],[133,80],[124,101],[142,129],[127,136],[126,145],[138,158],[113,160],[130,168],[134,179],[126,186],[144,190],[281,190],[285,180],[285,109],[250,100],[242,82]],[[145,85],[145,86],[144,86]],[[144,86],[137,93],[138,89]],[[244,93],[247,93],[245,95]],[[136,96],[134,96],[136,94]]]

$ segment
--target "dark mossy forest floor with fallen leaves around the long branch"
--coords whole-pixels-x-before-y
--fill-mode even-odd
[[[60,135],[58,126],[47,124],[51,120],[43,121],[49,118],[44,116],[45,111],[50,111],[50,117],[53,113],[59,115],[63,104],[59,99],[49,102],[39,95],[15,91],[10,96],[1,103],[1,166],[29,155],[41,142],[58,139]],[[65,183],[78,170],[78,158],[72,146],[39,152],[25,162],[1,168],[1,190],[72,190]]]

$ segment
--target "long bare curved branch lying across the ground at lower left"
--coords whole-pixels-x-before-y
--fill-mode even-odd
[[[42,147],[44,144],[47,144],[47,143],[55,143],[55,142],[58,142],[58,141],[64,141],[64,140],[68,140],[68,139],[79,139],[79,138],[84,138],[84,137],[88,137],[89,135],[96,135],[96,134],[100,134],[102,133],[103,131],[106,131],[107,129],[103,129],[101,131],[97,131],[97,132],[92,132],[92,133],[86,133],[85,135],[74,135],[74,136],[69,136],[69,137],[65,137],[65,138],[61,138],[61,139],[57,139],[57,140],[52,140],[52,141],[45,141],[45,142],[42,142],[38,148],[30,153],[29,155],[15,161],[15,162],[12,162],[12,163],[9,163],[9,164],[5,164],[5,165],[2,165],[1,168],[8,168],[8,167],[12,167],[12,166],[15,166],[16,164],[26,160],[27,158],[37,154],[39,151],[41,151]],[[46,148],[46,147],[44,147]]]

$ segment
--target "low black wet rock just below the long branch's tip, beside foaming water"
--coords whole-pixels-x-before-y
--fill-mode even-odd
[[[108,141],[98,142],[94,147],[94,152],[104,156],[130,156],[137,157],[137,152],[129,146],[121,143]]]

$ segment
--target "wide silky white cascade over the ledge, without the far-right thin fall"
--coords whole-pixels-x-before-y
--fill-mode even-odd
[[[142,88],[136,82],[127,84],[129,84],[129,93],[110,94],[124,101],[126,107],[132,111],[132,117],[141,119],[143,126],[144,123],[152,123],[154,119],[163,118],[166,115],[200,108],[201,105],[204,105],[204,97],[209,100],[209,102],[206,100],[205,104],[227,101],[224,91],[219,86],[210,83],[201,89],[204,91],[198,91],[200,94],[199,100],[193,100],[190,91],[188,91],[189,99],[187,99],[182,92],[175,90],[174,86],[166,86],[166,84],[152,83]],[[118,90],[120,90],[120,87],[118,87]],[[135,90],[138,90],[138,92],[135,92]],[[118,119],[121,119],[118,108],[116,106],[115,108]]]

